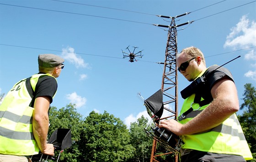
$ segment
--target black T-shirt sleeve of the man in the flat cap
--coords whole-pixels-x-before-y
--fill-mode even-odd
[[[40,74],[40,73],[39,73]],[[53,96],[56,93],[58,84],[55,78],[52,76],[40,76],[36,89],[35,89],[35,98],[40,96],[48,96],[50,98],[50,103],[53,102]]]

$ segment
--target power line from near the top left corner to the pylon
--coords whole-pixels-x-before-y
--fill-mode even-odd
[[[0,5],[9,5],[9,4],[0,3]],[[75,14],[75,15],[92,16],[92,17],[98,17],[98,18],[104,18],[104,19],[121,20],[121,21],[128,21],[128,22],[134,22],[134,23],[152,25],[152,24],[149,24],[149,23],[144,23],[144,22],[139,22],[139,21],[124,20],[124,19],[117,19],[117,18],[111,18],[111,17],[96,16],[96,15],[87,15],[87,14],[80,14],[80,13],[67,12],[67,11],[41,9],[41,8],[27,7],[27,6],[21,6],[21,5],[9,5],[9,6],[22,7],[22,8],[29,8],[29,9],[35,9],[35,10],[47,10],[47,11],[53,11],[53,12],[66,13],[66,14]]]

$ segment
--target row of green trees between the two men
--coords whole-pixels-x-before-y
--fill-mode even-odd
[[[69,128],[72,133],[73,146],[60,154],[59,162],[150,161],[153,139],[144,132],[148,123],[144,116],[128,129],[123,121],[107,111],[102,114],[92,111],[83,119],[75,105],[69,104],[59,110],[52,107],[49,120],[49,134],[58,128]],[[55,152],[59,155],[59,151]]]

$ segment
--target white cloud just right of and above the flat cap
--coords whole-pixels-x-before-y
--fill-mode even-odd
[[[89,68],[89,64],[85,63],[84,59],[82,59],[81,56],[78,56],[75,53],[75,49],[72,47],[67,46],[66,48],[63,48],[61,55],[65,60],[74,64],[76,68]]]

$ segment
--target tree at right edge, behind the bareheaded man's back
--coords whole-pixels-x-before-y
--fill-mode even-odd
[[[238,119],[254,157],[250,162],[256,162],[256,89],[249,83],[244,87],[244,103],[241,104],[240,109],[246,109]]]

